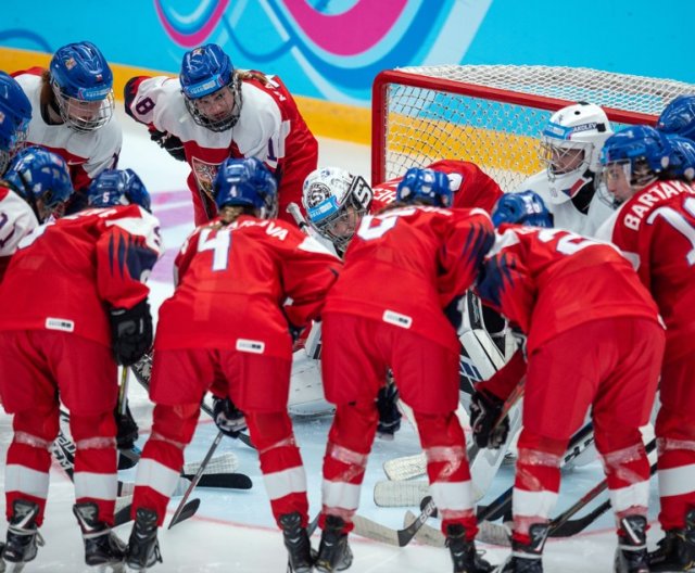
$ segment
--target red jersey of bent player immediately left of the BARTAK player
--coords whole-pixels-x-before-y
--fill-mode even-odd
[[[560,229],[502,225],[498,232],[476,291],[528,335],[529,353],[592,320],[658,321],[648,291],[615,246]]]

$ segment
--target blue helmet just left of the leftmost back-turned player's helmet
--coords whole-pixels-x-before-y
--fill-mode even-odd
[[[65,160],[38,145],[21,150],[4,179],[31,205],[39,221],[67,201],[74,191]]]

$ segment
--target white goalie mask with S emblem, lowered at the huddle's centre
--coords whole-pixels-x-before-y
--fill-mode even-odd
[[[367,181],[339,167],[312,171],[302,189],[309,225],[340,250],[352,239],[372,198]]]

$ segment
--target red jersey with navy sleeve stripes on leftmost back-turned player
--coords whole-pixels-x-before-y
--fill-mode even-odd
[[[108,307],[131,308],[162,254],[159,221],[137,205],[87,209],[39,227],[0,283],[0,330],[59,330],[111,345]]]

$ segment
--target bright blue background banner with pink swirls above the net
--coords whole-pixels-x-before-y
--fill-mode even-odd
[[[109,61],[177,73],[216,42],[299,96],[367,106],[386,68],[594,67],[695,84],[691,0],[39,0],[3,5],[0,47],[96,42]]]

